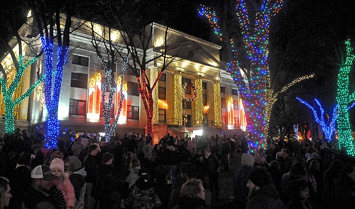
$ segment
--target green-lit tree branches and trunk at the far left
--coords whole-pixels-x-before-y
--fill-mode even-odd
[[[38,86],[42,82],[42,80],[46,77],[45,75],[39,77],[38,80],[33,85],[31,85],[25,93],[23,93],[22,95],[18,95],[18,97],[15,97],[15,100],[13,101],[12,99],[13,93],[19,86],[23,73],[25,72],[26,68],[32,65],[36,60],[37,57],[34,57],[30,61],[25,63],[23,61],[22,52],[20,52],[18,56],[18,69],[16,69],[16,73],[12,82],[7,83],[8,79],[5,75],[2,75],[2,77],[0,77],[1,93],[3,95],[3,102],[5,104],[5,132],[6,133],[14,133],[15,131],[15,126],[14,126],[15,106],[18,105],[20,102],[22,102],[25,98],[27,98],[33,92],[34,88]]]

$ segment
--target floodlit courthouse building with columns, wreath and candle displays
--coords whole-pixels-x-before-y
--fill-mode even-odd
[[[73,22],[75,21],[80,20],[73,18]],[[149,56],[159,53],[157,49],[165,30],[166,26],[153,23]],[[40,37],[39,34],[33,34],[33,31],[35,30],[32,26],[23,25],[20,34],[39,52]],[[119,39],[119,33],[117,34]],[[170,64],[163,71],[155,87],[154,140],[160,139],[167,133],[174,136],[183,134],[194,136],[201,135],[203,132],[221,134],[223,131],[228,132],[227,130],[245,129],[246,122],[238,89],[226,71],[226,63],[219,59],[221,47],[174,29],[168,30],[168,36],[179,40],[179,50],[173,50],[172,53],[175,54],[171,54],[179,58],[179,61]],[[94,51],[91,38],[91,32],[85,25],[70,35],[68,62],[63,72],[58,110],[61,131],[67,128],[77,132],[104,133],[102,107],[97,95],[101,93],[105,71]],[[14,51],[16,48],[18,50],[14,41],[11,41],[10,45],[14,47]],[[24,59],[30,60],[34,53],[31,53],[25,44],[23,44],[23,51]],[[10,55],[4,55],[1,59],[7,77],[11,80],[11,74],[14,74],[15,69],[11,64]],[[38,79],[38,74],[43,74],[43,60],[44,55],[25,71],[16,94],[25,92]],[[116,69],[114,69],[116,76],[121,74],[122,66],[123,60],[116,62]],[[148,78],[154,78],[154,74],[160,70],[160,67],[159,60],[150,63],[146,67]],[[146,114],[132,68],[126,70],[123,83],[126,99],[116,132],[144,134]],[[185,83],[187,85],[184,85]],[[36,126],[43,125],[46,128],[47,110],[43,104],[42,86],[37,87],[31,96],[15,108],[16,128],[25,129],[30,133],[35,132]],[[183,99],[183,95],[188,98],[194,97],[195,90],[194,101]],[[113,101],[112,121],[118,108],[116,95]],[[1,99],[0,111],[4,116],[3,99]],[[0,132],[3,134],[4,117],[0,127]]]

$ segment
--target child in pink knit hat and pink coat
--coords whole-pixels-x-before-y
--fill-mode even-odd
[[[69,174],[64,173],[64,162],[60,158],[52,160],[51,165],[52,174],[58,176],[55,183],[57,188],[62,191],[66,201],[67,209],[73,209],[75,206],[74,188],[69,180]]]

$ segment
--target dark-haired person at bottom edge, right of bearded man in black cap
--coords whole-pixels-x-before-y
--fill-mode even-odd
[[[307,182],[303,180],[293,180],[287,187],[287,195],[290,202],[288,209],[318,209],[318,207],[309,200],[309,190]]]

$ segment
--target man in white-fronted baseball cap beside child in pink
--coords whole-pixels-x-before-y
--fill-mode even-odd
[[[31,171],[32,184],[24,195],[27,209],[65,208],[63,194],[54,184],[57,176],[45,165],[39,165]]]

